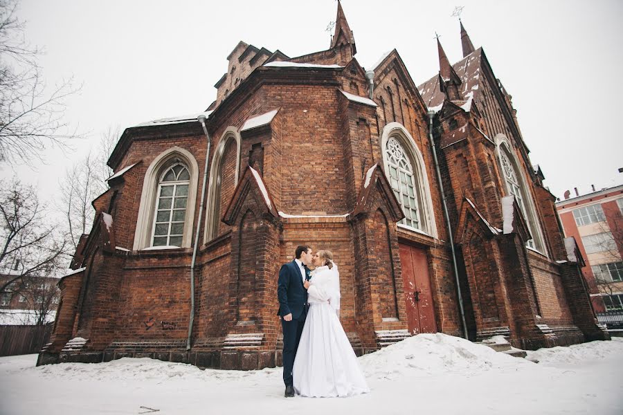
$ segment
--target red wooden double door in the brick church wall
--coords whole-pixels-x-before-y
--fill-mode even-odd
[[[400,244],[400,262],[409,331],[413,334],[436,333],[426,252],[421,248]]]

